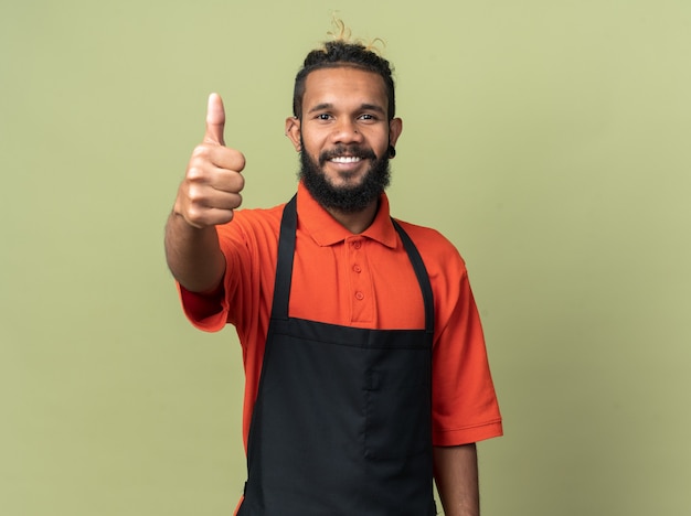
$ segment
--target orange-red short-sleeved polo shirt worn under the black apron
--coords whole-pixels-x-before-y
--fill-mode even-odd
[[[283,206],[240,209],[219,226],[226,258],[222,299],[180,288],[196,327],[235,326],[243,350],[245,449],[268,330]],[[419,286],[382,195],[372,225],[354,235],[300,183],[290,316],[376,330],[423,329]],[[457,445],[501,436],[501,416],[465,262],[438,232],[401,222],[415,243],[434,292],[433,441]]]

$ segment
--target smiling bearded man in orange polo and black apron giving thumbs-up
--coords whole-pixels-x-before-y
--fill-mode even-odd
[[[245,160],[209,100],[166,230],[191,322],[243,347],[246,515],[479,514],[477,441],[501,417],[465,264],[384,193],[403,129],[389,62],[308,54],[286,135],[295,197],[236,209]]]

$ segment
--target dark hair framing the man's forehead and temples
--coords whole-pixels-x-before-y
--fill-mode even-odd
[[[392,67],[385,58],[369,50],[361,43],[350,43],[342,40],[329,41],[322,49],[316,49],[307,54],[302,68],[295,77],[293,90],[293,114],[300,118],[302,115],[302,97],[305,80],[316,69],[351,67],[373,72],[384,79],[386,96],[389,97],[389,118],[393,119],[396,110],[394,80]]]

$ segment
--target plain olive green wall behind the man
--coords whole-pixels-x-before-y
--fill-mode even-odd
[[[3,1],[0,513],[232,514],[240,347],[184,320],[162,228],[213,90],[245,205],[289,197],[334,10],[396,67],[394,215],[468,262],[483,514],[690,514],[687,0]]]

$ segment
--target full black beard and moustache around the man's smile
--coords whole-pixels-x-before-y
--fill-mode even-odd
[[[330,158],[343,153],[371,160],[370,170],[362,183],[354,186],[333,186],[327,180],[322,171],[323,165]],[[321,206],[342,213],[361,212],[376,201],[391,182],[389,157],[378,159],[372,150],[359,146],[339,146],[330,152],[323,152],[319,157],[319,163],[315,163],[302,146],[300,165],[299,178],[312,197]]]

